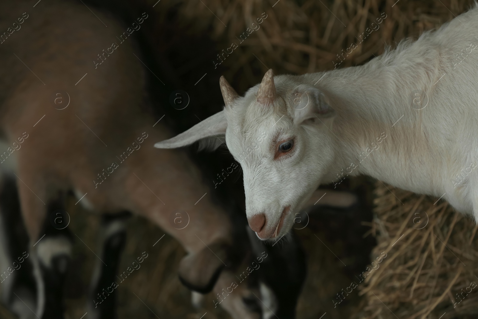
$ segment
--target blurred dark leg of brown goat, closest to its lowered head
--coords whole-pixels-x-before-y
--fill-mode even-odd
[[[89,319],[117,318],[116,289],[111,289],[113,282],[118,282],[117,273],[121,253],[126,243],[126,220],[129,212],[103,214],[100,232],[100,258],[97,260],[90,295],[87,299]]]

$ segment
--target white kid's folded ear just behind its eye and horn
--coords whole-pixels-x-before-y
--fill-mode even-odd
[[[331,128],[336,111],[329,105],[326,96],[317,89],[298,90],[293,95],[293,118],[297,125],[325,124]]]

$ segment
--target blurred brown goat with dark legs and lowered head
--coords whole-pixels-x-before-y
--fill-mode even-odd
[[[0,11],[9,17],[0,22],[0,169],[17,179],[37,286],[34,314],[63,318],[72,236],[52,229],[50,217],[64,209],[69,191],[88,209],[141,215],[177,239],[188,253],[179,269],[186,286],[217,294],[229,286],[246,255],[231,253],[241,251],[232,249],[235,225],[184,152],[153,148],[172,134],[149,113],[141,56],[129,38],[148,14],[131,28],[72,1],[12,1]],[[176,211],[187,212],[187,227],[174,224]],[[124,243],[120,219],[105,220],[109,243],[101,256]],[[245,251],[248,242],[241,245]],[[102,276],[89,318],[114,314],[106,302],[114,297],[97,298]],[[251,289],[260,294],[239,285],[221,306],[234,318],[260,318],[244,302]]]

